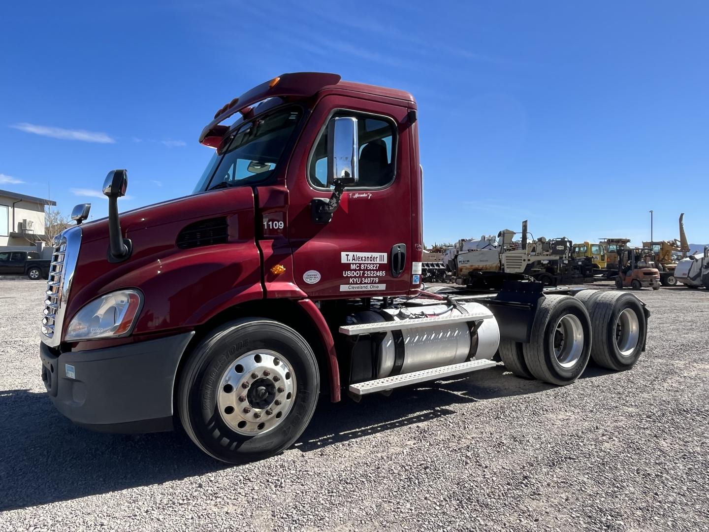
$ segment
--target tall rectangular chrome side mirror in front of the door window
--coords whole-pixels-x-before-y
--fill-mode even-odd
[[[328,123],[328,185],[343,188],[359,179],[357,118],[335,118]]]

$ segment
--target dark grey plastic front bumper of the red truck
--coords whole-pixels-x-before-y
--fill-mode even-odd
[[[40,343],[42,379],[57,410],[77,425],[169,431],[177,366],[193,335],[61,354]]]

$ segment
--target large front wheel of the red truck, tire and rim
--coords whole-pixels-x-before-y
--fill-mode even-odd
[[[235,464],[289,448],[319,390],[318,363],[302,336],[277,321],[244,318],[196,346],[179,379],[177,410],[201,450]]]

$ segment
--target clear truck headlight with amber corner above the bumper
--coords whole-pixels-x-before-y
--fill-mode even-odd
[[[128,334],[142,299],[138,290],[119,290],[94,299],[72,318],[64,339],[75,342]]]

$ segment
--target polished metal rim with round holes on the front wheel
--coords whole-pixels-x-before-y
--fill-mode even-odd
[[[256,436],[279,426],[295,398],[293,366],[280,353],[259,349],[241,355],[222,374],[217,409],[235,433]]]

